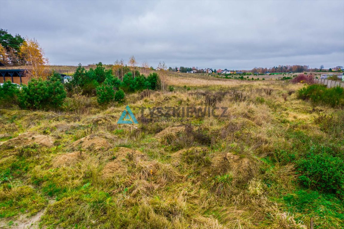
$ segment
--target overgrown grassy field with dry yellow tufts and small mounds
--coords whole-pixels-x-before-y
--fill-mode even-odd
[[[288,80],[160,77],[121,104],[0,110],[0,228],[344,228],[343,193],[300,178],[313,156],[343,159],[342,108]],[[126,105],[139,124],[116,124]],[[140,111],[214,106],[227,117]]]

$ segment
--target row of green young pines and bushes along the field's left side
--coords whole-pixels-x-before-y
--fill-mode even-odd
[[[22,85],[21,90],[17,84],[5,82],[0,87],[0,107],[18,105],[30,110],[63,110],[66,97],[75,94],[97,96],[99,104],[122,102],[125,93],[158,89],[158,81],[156,72],[146,77],[136,70],[134,77],[134,73],[129,71],[120,79],[112,74],[112,69],[105,69],[101,62],[95,69],[89,70],[79,65],[73,79],[65,84],[56,71],[46,78],[31,78],[28,85]]]

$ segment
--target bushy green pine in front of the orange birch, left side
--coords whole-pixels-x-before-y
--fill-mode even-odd
[[[18,100],[22,108],[56,109],[61,108],[66,94],[60,74],[53,72],[47,80],[29,80],[27,86],[23,85]]]

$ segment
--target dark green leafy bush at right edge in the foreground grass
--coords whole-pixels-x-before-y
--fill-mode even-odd
[[[296,162],[299,182],[308,188],[344,197],[344,160],[326,150]]]

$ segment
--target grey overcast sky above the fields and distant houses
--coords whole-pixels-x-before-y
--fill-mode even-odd
[[[4,1],[0,27],[51,64],[344,65],[344,1]]]

